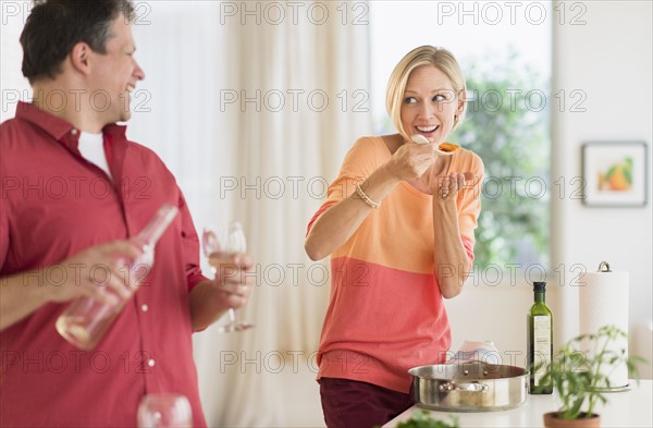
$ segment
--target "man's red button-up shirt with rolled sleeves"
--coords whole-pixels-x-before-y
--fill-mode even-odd
[[[1,426],[133,427],[143,395],[158,392],[186,395],[195,425],[206,426],[188,306],[205,278],[188,208],[172,173],[124,126],[103,135],[113,180],[81,156],[78,130],[33,105],[19,103],[0,125],[0,277],[133,236],[165,203],[180,208],[149,276],[94,351],[54,330],[67,304],[46,304],[0,332]],[[56,286],[61,274],[27,281]]]

